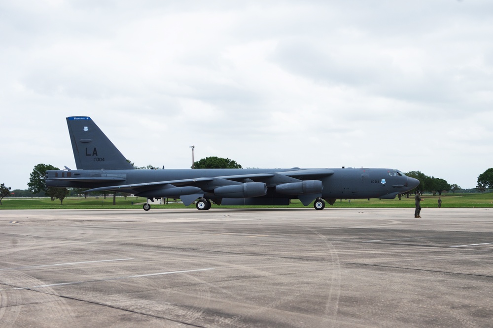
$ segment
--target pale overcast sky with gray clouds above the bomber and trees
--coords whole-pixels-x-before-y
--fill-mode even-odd
[[[493,167],[491,0],[0,1],[0,183],[75,168],[90,116],[138,166]]]

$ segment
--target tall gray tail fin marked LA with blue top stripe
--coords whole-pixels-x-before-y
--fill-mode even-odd
[[[67,125],[77,169],[134,168],[90,117],[67,117]]]

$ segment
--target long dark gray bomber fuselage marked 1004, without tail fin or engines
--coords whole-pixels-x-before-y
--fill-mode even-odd
[[[304,171],[303,169],[302,171]],[[334,173],[329,176],[318,177],[323,189],[321,197],[324,199],[354,199],[354,198],[394,198],[400,193],[405,193],[416,187],[416,179],[410,178],[395,169],[384,168],[331,168]],[[135,169],[135,170],[52,170],[47,171],[46,184],[52,187],[70,188],[102,188],[109,186],[122,186],[119,192],[139,194],[126,185],[153,183],[157,181],[179,181],[200,179],[204,177],[238,176],[293,172],[294,169]],[[301,171],[300,171],[301,172]],[[315,173],[314,173],[315,175]],[[296,174],[275,177],[256,178],[255,181],[263,182],[268,188],[264,197],[297,198],[297,195],[286,195],[276,192],[277,185],[290,183],[296,179]],[[306,176],[299,177],[306,180]],[[237,179],[242,180],[242,179]],[[228,184],[229,180],[221,180],[220,186]],[[294,180],[292,180],[294,181]],[[243,181],[230,181],[230,185],[244,183]],[[187,183],[194,185],[213,195],[213,190],[219,187],[214,181],[197,181]],[[179,182],[175,185],[179,186]],[[113,188],[114,189],[114,188]],[[152,185],[147,191],[155,191]],[[209,196],[211,196],[209,195]],[[170,195],[180,197],[180,195]],[[155,197],[160,197],[159,192]],[[169,197],[169,196],[167,196]],[[213,198],[213,197],[211,197]],[[227,197],[226,197],[227,198]]]

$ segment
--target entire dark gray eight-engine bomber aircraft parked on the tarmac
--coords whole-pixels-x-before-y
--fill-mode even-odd
[[[46,186],[90,188],[139,197],[195,200],[199,210],[218,205],[288,205],[298,198],[321,210],[325,201],[383,198],[416,188],[420,182],[387,168],[134,169],[106,134],[87,116],[67,117],[76,170],[46,171]],[[148,211],[148,202],[143,205]]]

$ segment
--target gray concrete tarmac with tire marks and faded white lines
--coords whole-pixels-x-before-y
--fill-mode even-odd
[[[493,209],[0,210],[0,326],[492,327]]]

